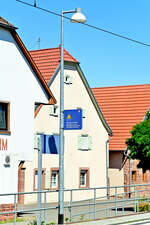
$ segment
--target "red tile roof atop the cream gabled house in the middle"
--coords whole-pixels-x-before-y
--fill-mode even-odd
[[[60,47],[29,51],[38,69],[48,83],[60,62]],[[64,49],[64,61],[78,61]]]

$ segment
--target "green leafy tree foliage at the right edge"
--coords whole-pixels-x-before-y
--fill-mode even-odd
[[[136,124],[130,131],[131,137],[126,140],[130,150],[130,158],[138,159],[138,167],[144,171],[150,170],[150,112],[146,113],[144,121]]]

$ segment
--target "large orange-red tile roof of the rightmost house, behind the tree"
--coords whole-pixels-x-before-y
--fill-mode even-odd
[[[113,131],[110,150],[125,150],[129,131],[141,122],[150,107],[150,84],[92,88]]]

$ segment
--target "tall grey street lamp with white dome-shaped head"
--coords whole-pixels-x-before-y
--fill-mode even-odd
[[[61,13],[61,59],[60,59],[60,148],[59,148],[59,206],[58,206],[58,224],[64,224],[64,14],[74,13],[71,22],[85,23],[86,18],[77,8],[71,11],[62,11]]]

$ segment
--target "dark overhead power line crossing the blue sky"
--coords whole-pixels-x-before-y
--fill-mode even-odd
[[[24,4],[24,5],[28,5],[28,6],[37,8],[37,9],[39,9],[39,10],[42,10],[42,11],[44,11],[44,12],[47,12],[47,13],[53,14],[53,15],[55,15],[55,16],[61,17],[61,14],[59,14],[59,13],[56,13],[56,12],[53,12],[53,11],[51,11],[51,10],[48,10],[48,9],[44,9],[44,8],[38,7],[38,6],[36,5],[36,1],[34,2],[34,5],[32,5],[32,4],[30,4],[30,3],[27,3],[27,2],[24,2],[24,1],[22,1],[22,0],[16,0],[16,1],[17,1],[17,2],[20,2],[20,3]],[[64,17],[65,19],[70,20],[70,18],[67,17],[67,16],[63,16],[63,17]],[[105,30],[105,29],[103,29],[103,28],[100,28],[100,27],[97,27],[97,26],[94,26],[94,25],[91,25],[91,24],[88,24],[88,23],[81,23],[81,24],[84,25],[84,26],[87,26],[87,27],[90,27],[90,28],[93,28],[93,29],[96,29],[96,30],[105,32],[105,33],[107,33],[107,34],[110,34],[110,35],[113,35],[113,36],[116,36],[116,37],[119,37],[119,38],[122,38],[122,39],[125,39],[125,40],[128,40],[128,41],[132,41],[132,42],[134,42],[134,43],[137,43],[137,44],[140,44],[140,45],[144,45],[144,46],[146,46],[146,47],[150,47],[150,44],[147,44],[147,43],[144,43],[144,42],[141,42],[141,41],[132,39],[132,38],[130,38],[130,37],[127,37],[127,36],[124,36],[124,35],[121,35],[121,34],[117,34],[117,33],[111,32],[111,31],[109,31],[109,30]]]

